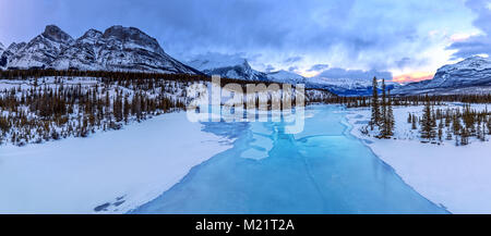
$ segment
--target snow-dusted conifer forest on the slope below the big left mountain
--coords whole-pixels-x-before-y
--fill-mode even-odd
[[[67,137],[86,137],[96,131],[119,129],[184,109],[185,85],[155,79],[115,84],[52,83],[21,85],[0,91],[0,144],[23,146]],[[25,85],[24,85],[25,86]],[[171,94],[170,94],[171,92]],[[183,92],[178,97],[172,97]]]

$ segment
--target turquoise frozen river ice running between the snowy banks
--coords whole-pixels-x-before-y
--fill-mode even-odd
[[[349,134],[343,108],[306,113],[297,135],[283,123],[205,123],[233,148],[130,213],[447,213]]]

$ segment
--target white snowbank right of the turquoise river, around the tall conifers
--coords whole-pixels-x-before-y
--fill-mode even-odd
[[[483,109],[486,105],[472,105]],[[407,124],[408,113],[421,115],[422,107],[395,108],[396,139],[376,139],[361,134],[370,110],[349,109],[351,134],[362,139],[384,162],[422,196],[452,213],[491,213],[491,142],[471,140],[422,144]]]

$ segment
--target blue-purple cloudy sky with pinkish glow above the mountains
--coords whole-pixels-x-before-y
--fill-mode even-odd
[[[3,45],[47,24],[73,37],[134,26],[183,61],[220,53],[306,76],[421,79],[491,54],[491,0],[0,0]]]

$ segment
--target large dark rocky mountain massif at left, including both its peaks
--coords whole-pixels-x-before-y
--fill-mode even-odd
[[[155,38],[134,27],[112,26],[104,33],[89,29],[73,39],[59,27],[48,25],[41,35],[20,45],[11,46],[9,54],[3,53],[4,67],[200,74],[168,55]]]

